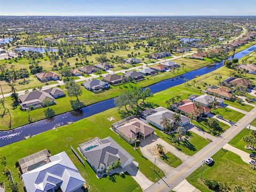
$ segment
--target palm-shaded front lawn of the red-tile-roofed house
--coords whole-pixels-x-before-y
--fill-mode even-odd
[[[211,135],[219,135],[225,132],[229,126],[225,123],[219,121],[220,129],[211,129],[211,127],[207,124],[208,119],[199,119],[198,121],[192,121],[194,125],[196,125],[199,129],[209,133]]]

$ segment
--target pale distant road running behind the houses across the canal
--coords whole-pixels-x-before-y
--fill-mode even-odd
[[[183,54],[183,57],[187,57],[188,55],[191,55],[191,54],[194,54],[196,53],[195,51],[191,52],[191,53],[187,53],[187,54]],[[178,58],[181,58],[182,55],[178,56],[178,57],[174,57],[174,58],[171,58],[171,59],[166,59],[166,61],[171,61],[171,60],[174,60],[174,59],[178,59]],[[158,63],[162,63],[162,62],[165,62],[165,60],[162,60],[162,61],[157,61],[155,63],[149,63],[147,66],[152,66],[152,65],[156,65]],[[143,67],[146,67],[146,64],[143,64]],[[119,71],[115,71],[115,73],[124,73],[125,71],[127,70],[134,70],[134,69],[139,69],[141,68],[141,66],[138,66],[138,67],[132,67],[130,69],[123,69],[123,70],[119,70]],[[114,72],[111,72],[111,73],[108,73],[108,74],[113,74]],[[108,74],[103,74],[102,76],[107,76]],[[81,78],[81,79],[77,79],[75,80],[75,82],[82,82],[82,81],[86,81],[86,80],[89,80],[89,79],[92,79],[92,78],[98,78],[100,77],[100,75],[94,75],[93,77],[85,77],[85,78]],[[43,86],[42,90],[45,90],[45,89],[49,89],[49,88],[52,88],[52,87],[56,87],[57,85],[64,85],[64,83],[56,83],[56,84],[52,84],[52,85],[46,85],[46,86]],[[21,91],[16,91],[16,93],[18,94],[25,94],[25,91],[26,90],[21,90]],[[32,91],[32,89],[28,89],[29,92]],[[11,93],[6,93],[4,94],[4,97],[10,97]],[[2,98],[3,96],[0,95],[0,98]]]

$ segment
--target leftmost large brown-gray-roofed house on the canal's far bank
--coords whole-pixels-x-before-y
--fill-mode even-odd
[[[52,104],[55,103],[55,99],[47,92],[35,91],[27,94],[19,95],[21,109],[28,109],[29,107],[38,108],[43,106],[45,99],[50,99]]]

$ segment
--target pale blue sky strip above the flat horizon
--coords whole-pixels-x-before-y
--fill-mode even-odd
[[[256,0],[0,0],[1,15],[256,15]]]

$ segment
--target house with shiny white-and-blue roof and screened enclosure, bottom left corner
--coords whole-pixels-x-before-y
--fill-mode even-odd
[[[77,191],[85,180],[65,152],[50,156],[47,150],[19,159],[26,191]]]

